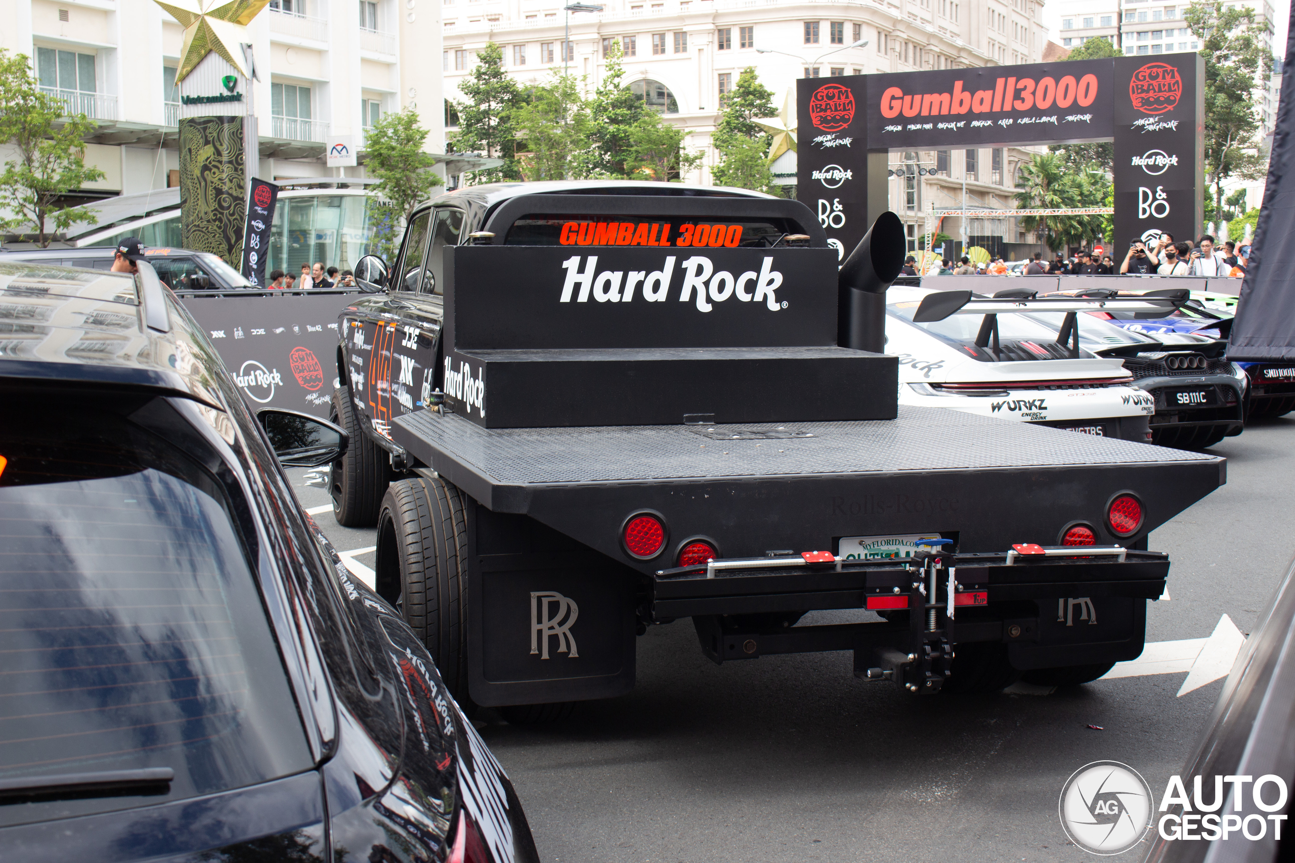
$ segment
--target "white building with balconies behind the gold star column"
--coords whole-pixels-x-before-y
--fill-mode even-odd
[[[440,145],[439,0],[272,0],[247,27],[260,76],[255,176],[337,176],[324,137],[363,136],[414,105]],[[95,120],[88,162],[106,175],[85,198],[179,185],[176,118],[183,28],[153,0],[8,0],[0,48],[27,54],[44,89]],[[401,62],[414,58],[414,62]],[[0,151],[0,160],[10,154]],[[352,175],[363,168],[348,168]]]

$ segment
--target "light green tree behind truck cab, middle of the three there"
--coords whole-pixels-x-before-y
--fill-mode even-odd
[[[548,84],[536,84],[513,110],[518,136],[517,163],[523,180],[567,180],[591,173],[602,151],[589,140],[589,113],[572,75],[553,70]]]

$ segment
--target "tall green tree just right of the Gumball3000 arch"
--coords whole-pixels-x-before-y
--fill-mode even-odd
[[[1193,3],[1184,18],[1206,61],[1206,180],[1213,184],[1219,213],[1225,180],[1259,180],[1267,171],[1255,140],[1255,85],[1259,76],[1267,82],[1272,75],[1273,58],[1261,40],[1267,25],[1255,22],[1254,9],[1220,0]]]

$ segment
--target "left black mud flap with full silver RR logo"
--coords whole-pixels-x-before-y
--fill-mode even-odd
[[[637,573],[526,516],[469,508],[473,701],[583,701],[633,688]]]

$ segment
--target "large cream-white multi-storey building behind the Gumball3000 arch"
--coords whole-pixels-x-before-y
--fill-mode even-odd
[[[565,62],[592,92],[619,40],[625,80],[668,122],[692,132],[686,146],[704,153],[702,167],[686,179],[710,182],[720,98],[747,66],[781,105],[798,78],[1039,62],[1046,41],[1041,9],[1037,0],[606,0],[601,13],[566,13],[554,0],[444,0],[442,67],[447,98],[461,101],[458,84],[475,52],[493,41],[519,80],[544,82]],[[850,47],[860,40],[868,44]],[[906,158],[914,168],[931,169],[892,180],[891,208],[916,241],[925,232],[921,213],[932,204],[961,206],[963,175],[969,207],[1010,207],[1017,166],[1028,155],[1015,147],[891,154],[895,168],[906,172],[900,168]],[[969,228],[979,234],[984,226]],[[1018,239],[1009,225],[988,228],[985,234]],[[960,225],[947,221],[941,230],[958,237]]]

